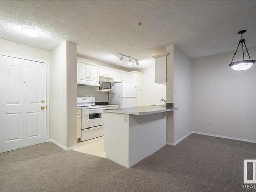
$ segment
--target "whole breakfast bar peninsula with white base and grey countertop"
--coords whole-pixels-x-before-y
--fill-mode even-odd
[[[104,110],[106,158],[130,168],[166,145],[166,112],[178,108],[137,106]]]

